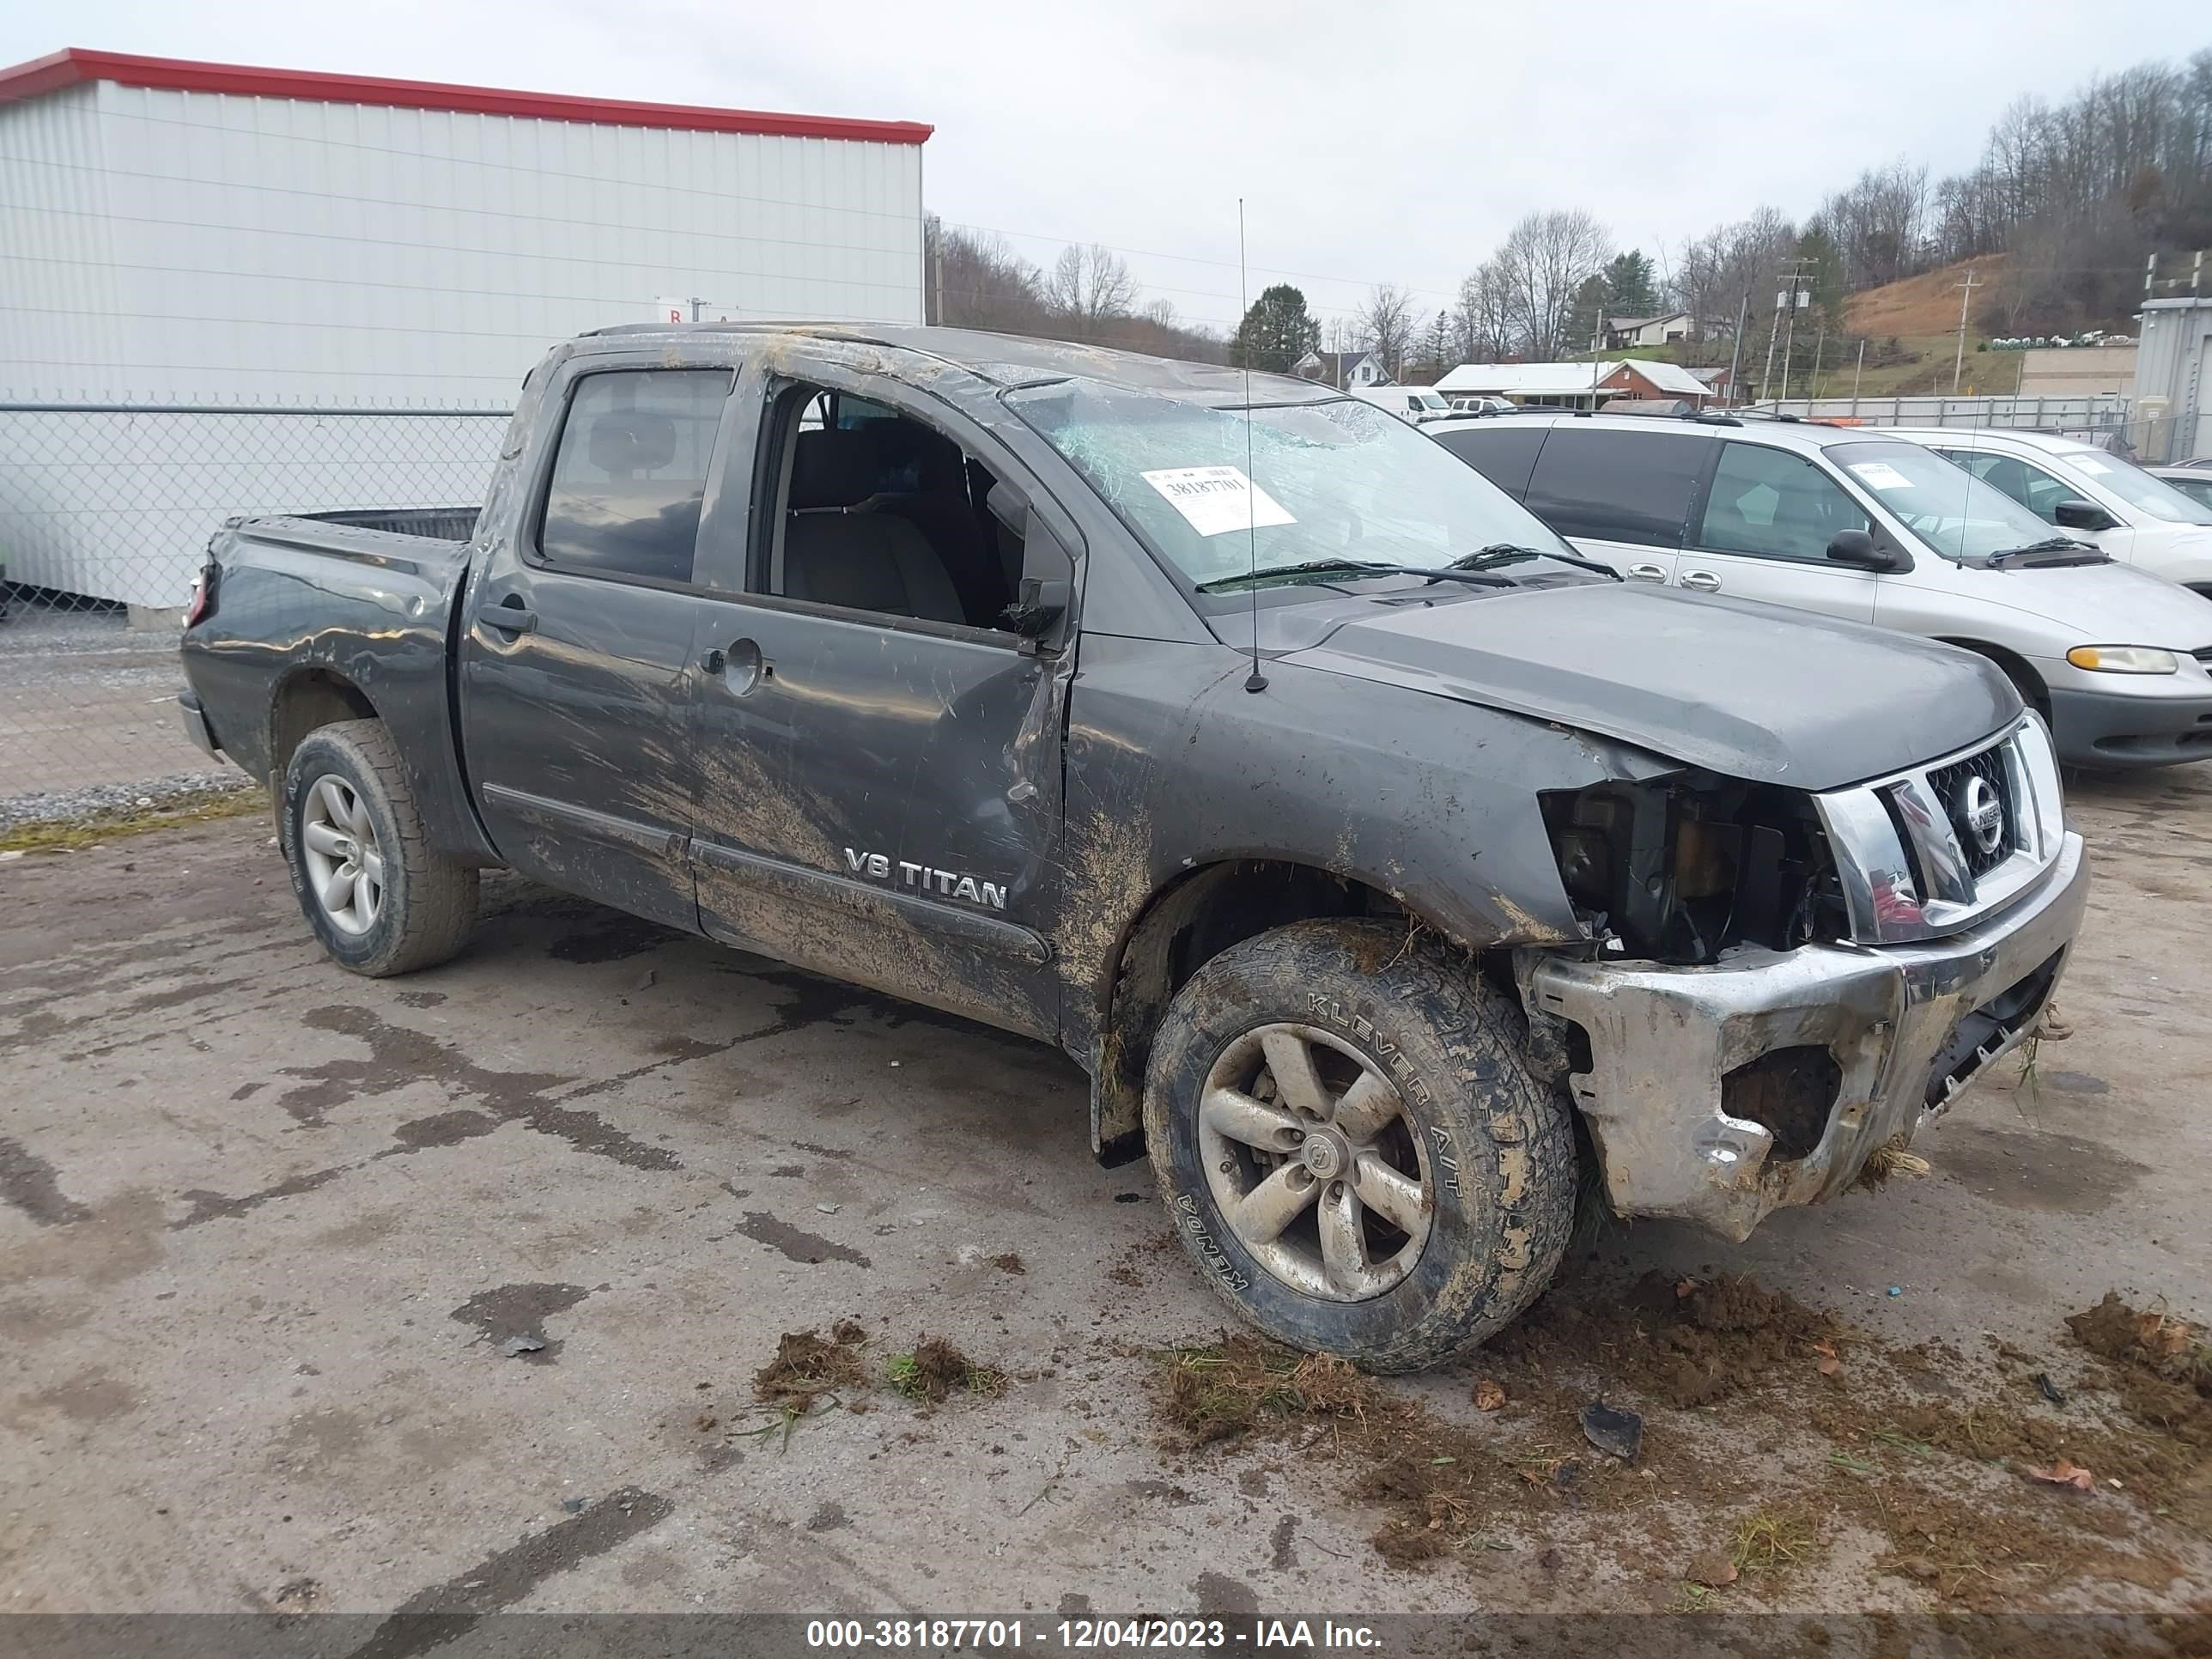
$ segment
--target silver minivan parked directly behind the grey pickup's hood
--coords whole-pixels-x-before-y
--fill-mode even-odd
[[[1891,434],[1522,416],[1427,429],[1630,582],[1763,599],[1989,657],[2059,757],[2212,757],[2212,602],[2177,595]]]

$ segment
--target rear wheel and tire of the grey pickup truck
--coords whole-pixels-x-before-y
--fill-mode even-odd
[[[285,869],[330,958],[383,980],[451,960],[476,927],[476,869],[429,845],[383,721],[319,726],[276,814]]]

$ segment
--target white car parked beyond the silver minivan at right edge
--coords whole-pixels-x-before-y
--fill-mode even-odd
[[[2079,438],[2044,431],[1885,427],[1995,484],[2044,524],[2124,564],[2212,595],[2212,507]]]

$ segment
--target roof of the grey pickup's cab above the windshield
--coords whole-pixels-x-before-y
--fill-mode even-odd
[[[588,338],[639,336],[699,338],[701,334],[763,334],[803,341],[849,341],[883,345],[949,363],[1002,387],[1046,385],[1051,380],[1099,380],[1130,392],[1201,403],[1208,407],[1329,403],[1347,394],[1287,374],[1245,374],[1221,363],[1186,363],[1181,358],[1115,352],[1104,345],[1071,341],[1037,341],[1024,334],[987,334],[971,327],[872,325],[872,323],[617,323],[593,330]]]

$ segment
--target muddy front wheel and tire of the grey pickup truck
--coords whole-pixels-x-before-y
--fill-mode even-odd
[[[1369,1371],[1478,1347],[1573,1232],[1573,1124],[1511,1000],[1402,925],[1296,922],[1206,962],[1152,1040],[1144,1128],[1208,1283]]]

